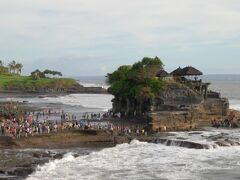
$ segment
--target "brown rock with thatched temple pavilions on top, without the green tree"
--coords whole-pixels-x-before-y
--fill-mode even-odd
[[[167,83],[148,113],[152,130],[188,130],[204,121],[227,115],[228,99],[209,90],[210,83],[203,82],[202,75],[191,66],[179,67],[171,73],[161,69],[156,74]]]

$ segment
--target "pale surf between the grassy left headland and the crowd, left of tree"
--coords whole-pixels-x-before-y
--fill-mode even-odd
[[[108,88],[105,77],[77,77],[76,80],[85,87]],[[106,112],[112,108],[113,96],[110,94],[69,94],[52,97],[24,97],[21,95],[9,96],[0,94],[1,101],[24,102],[27,106],[40,109],[64,110],[71,114],[84,112]]]

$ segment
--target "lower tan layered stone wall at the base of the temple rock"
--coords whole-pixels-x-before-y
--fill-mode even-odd
[[[229,103],[225,98],[207,99],[200,104],[192,104],[185,110],[154,111],[148,114],[149,127],[153,131],[191,130],[202,122],[210,122],[228,115]],[[205,123],[206,124],[206,123]]]

